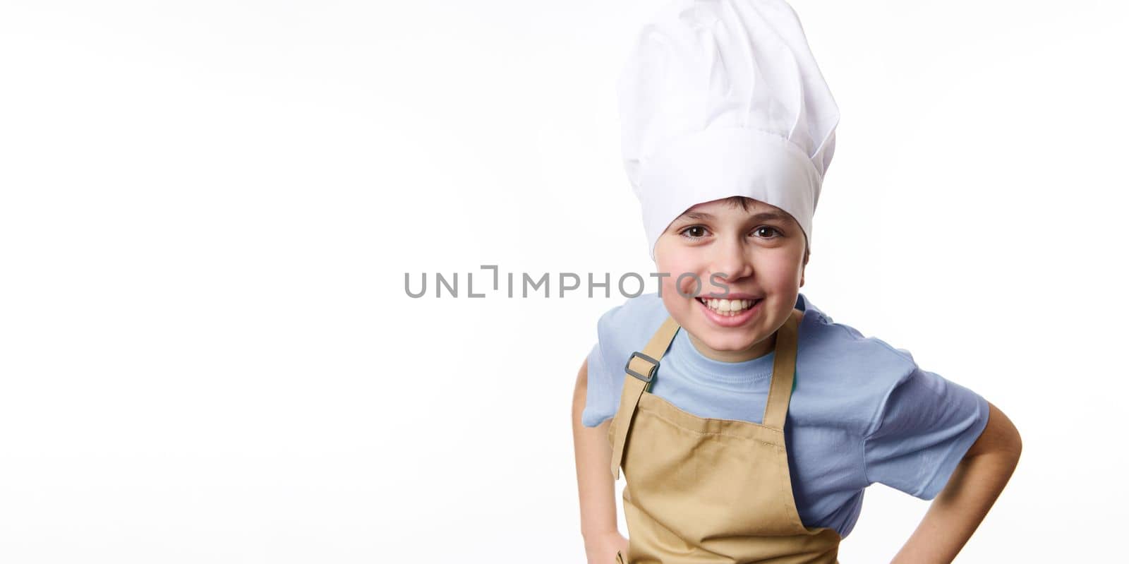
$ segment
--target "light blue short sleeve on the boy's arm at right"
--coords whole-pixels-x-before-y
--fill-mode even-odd
[[[868,484],[933,500],[988,424],[988,401],[914,366],[890,391],[863,441]]]

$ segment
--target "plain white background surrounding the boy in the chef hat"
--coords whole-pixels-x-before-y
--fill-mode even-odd
[[[1126,8],[793,5],[842,113],[803,292],[1023,434],[957,561],[1117,557]],[[0,561],[583,562],[624,298],[480,266],[654,269],[614,79],[655,6],[5,2]],[[841,561],[927,507],[870,487]]]

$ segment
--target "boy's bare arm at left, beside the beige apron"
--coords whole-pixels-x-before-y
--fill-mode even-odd
[[[585,361],[572,393],[572,445],[576,451],[576,480],[580,495],[580,533],[585,538],[619,529],[615,518],[615,481],[610,470],[612,449],[607,443],[605,420],[595,427],[580,423],[588,390],[588,363]]]

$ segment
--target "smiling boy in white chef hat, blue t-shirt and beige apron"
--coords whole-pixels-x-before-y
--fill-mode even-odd
[[[795,12],[677,1],[639,37],[621,79],[624,159],[669,276],[601,318],[578,376],[588,562],[833,564],[875,481],[936,497],[895,562],[952,562],[1019,436],[799,293],[838,109]]]

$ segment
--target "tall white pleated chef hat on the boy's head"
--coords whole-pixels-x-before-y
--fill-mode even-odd
[[[839,107],[782,0],[675,0],[619,79],[623,164],[658,236],[697,203],[746,196],[812,240]]]

